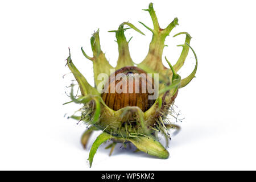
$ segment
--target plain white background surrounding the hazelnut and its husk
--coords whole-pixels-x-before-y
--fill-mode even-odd
[[[0,3],[0,169],[177,170],[256,169],[255,119],[255,2],[254,1],[152,1],[165,28],[175,17],[179,26],[164,48],[172,64],[181,52],[177,44],[192,36],[199,67],[196,78],[180,89],[175,104],[185,119],[172,138],[170,158],[160,160],[117,147],[113,156],[101,146],[89,168],[88,150],[80,136],[85,125],[64,118],[79,108],[69,101],[65,86],[72,75],[65,66],[68,47],[73,62],[90,84],[90,36],[100,28],[101,47],[114,66],[118,57],[115,36],[128,21],[146,36],[126,32],[135,63],[146,56],[152,27],[146,11],[150,1],[1,1]],[[165,63],[164,63],[165,64]],[[182,77],[195,65],[190,52]],[[93,140],[89,141],[89,147]]]

